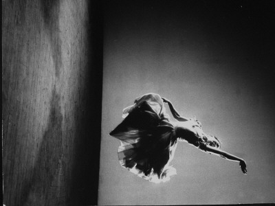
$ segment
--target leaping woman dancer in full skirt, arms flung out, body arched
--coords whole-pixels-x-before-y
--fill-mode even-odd
[[[178,122],[170,122],[164,103]],[[203,133],[201,123],[195,118],[181,117],[173,104],[160,95],[142,95],[135,104],[124,108],[122,117],[124,120],[110,133],[121,141],[118,148],[120,165],[148,181],[165,182],[176,174],[169,163],[177,141],[187,141],[204,152],[239,161],[241,170],[247,173],[243,159],[220,150],[217,137]]]

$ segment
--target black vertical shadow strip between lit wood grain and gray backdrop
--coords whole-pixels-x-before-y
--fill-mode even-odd
[[[89,44],[88,65],[85,71],[88,82],[83,88],[84,102],[76,108],[77,126],[72,165],[72,186],[69,203],[97,205],[98,172],[100,163],[101,108],[102,108],[102,41],[103,14],[101,1],[89,1],[87,31]]]

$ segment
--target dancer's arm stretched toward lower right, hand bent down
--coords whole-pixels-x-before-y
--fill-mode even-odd
[[[206,144],[201,144],[199,146],[199,149],[204,150],[206,152],[209,152],[210,154],[219,155],[219,157],[222,157],[224,159],[228,159],[231,161],[239,161],[241,170],[243,171],[243,174],[247,174],[248,170],[246,170],[246,163],[243,159],[236,157],[234,155],[229,154],[228,152],[224,152],[223,150],[219,150],[217,148],[213,148],[211,146],[208,146]]]

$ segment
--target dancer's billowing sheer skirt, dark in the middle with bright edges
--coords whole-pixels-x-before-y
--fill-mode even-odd
[[[154,183],[165,182],[176,174],[169,165],[177,138],[169,122],[162,98],[153,93],[143,95],[124,108],[124,120],[110,135],[120,139],[118,159],[122,167]]]

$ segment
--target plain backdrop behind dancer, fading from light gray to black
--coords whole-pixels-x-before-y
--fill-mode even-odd
[[[105,5],[99,205],[274,203],[274,4],[116,1]],[[167,183],[120,166],[109,132],[138,96],[159,93],[196,115],[222,149],[248,164],[179,143]],[[168,108],[168,107],[167,107]]]

